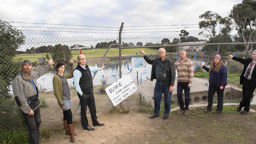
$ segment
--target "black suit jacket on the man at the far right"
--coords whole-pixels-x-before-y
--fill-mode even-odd
[[[250,62],[252,61],[252,58],[247,58],[247,59],[243,59],[243,58],[239,58],[239,57],[233,57],[232,58],[235,61],[239,61],[240,63],[243,64],[243,72],[240,76],[240,85],[243,84],[243,79],[245,78],[243,75],[245,74],[245,70],[247,68],[247,66],[250,64]],[[256,87],[256,66],[254,67],[253,71],[252,71],[252,86]]]

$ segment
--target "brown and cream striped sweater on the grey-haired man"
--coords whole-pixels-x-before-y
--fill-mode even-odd
[[[189,82],[192,83],[194,76],[194,67],[190,59],[185,59],[181,62],[180,60],[175,62],[175,68],[178,74],[178,82]]]

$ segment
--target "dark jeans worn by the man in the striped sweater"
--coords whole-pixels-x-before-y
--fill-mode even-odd
[[[184,110],[184,101],[182,98],[182,92],[184,89],[184,93],[185,93],[185,110],[188,110],[188,106],[189,106],[189,92],[190,92],[190,87],[188,87],[188,82],[178,82],[177,83],[177,97],[178,97],[178,101],[180,103],[180,109]]]

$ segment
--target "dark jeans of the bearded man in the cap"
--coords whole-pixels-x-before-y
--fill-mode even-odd
[[[25,123],[28,126],[28,136],[30,144],[39,144],[39,127],[41,124],[40,107],[35,109],[33,116],[25,113],[22,113],[22,115],[24,116]]]

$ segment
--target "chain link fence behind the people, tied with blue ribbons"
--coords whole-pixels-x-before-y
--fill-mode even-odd
[[[208,39],[199,36],[186,38],[179,36],[134,36],[122,37],[122,51],[119,55],[118,41],[118,37],[43,37],[26,39],[23,45],[12,52],[13,58],[7,61],[11,64],[0,66],[0,129],[26,131],[23,116],[20,114],[14,100],[10,85],[25,59],[32,61],[33,70],[45,65],[48,59],[53,59],[55,63],[62,61],[67,66],[65,71],[67,74],[70,72],[68,61],[73,59],[75,67],[80,50],[87,58],[87,65],[100,67],[105,63],[105,69],[92,74],[96,108],[100,112],[108,111],[113,107],[104,89],[119,79],[120,65],[122,76],[130,74],[135,81],[138,88],[135,95],[142,94],[143,100],[153,103],[152,96],[156,81],[150,81],[152,66],[145,62],[143,55],[139,54],[139,50],[142,48],[153,59],[158,56],[158,49],[164,47],[167,56],[174,62],[179,59],[178,52],[186,50],[187,58],[193,62],[195,69],[190,94],[191,104],[207,103],[209,73],[203,70],[200,64],[204,61],[206,66],[209,66],[214,55],[219,53],[223,63],[228,68],[228,86],[224,90],[224,102],[239,102],[242,97],[239,77],[243,65],[228,59],[228,55],[251,57],[252,51],[248,52],[247,50],[248,48],[254,50],[256,47],[256,41],[252,43],[234,43],[231,37]],[[9,46],[11,45],[9,44]],[[0,44],[1,48],[5,46],[6,44]],[[119,59],[121,59],[121,63],[119,63]],[[56,70],[52,66],[46,74],[37,79],[40,92],[39,99],[41,100],[41,127],[43,128],[59,126],[63,120],[62,111],[53,92],[52,78],[55,74]],[[71,109],[74,113],[73,120],[78,121],[80,120],[79,99],[73,87],[73,79],[68,79],[68,81],[71,91]],[[177,83],[177,80],[175,83]],[[176,84],[171,100],[172,104],[178,106]],[[77,112],[76,109],[78,109]]]

